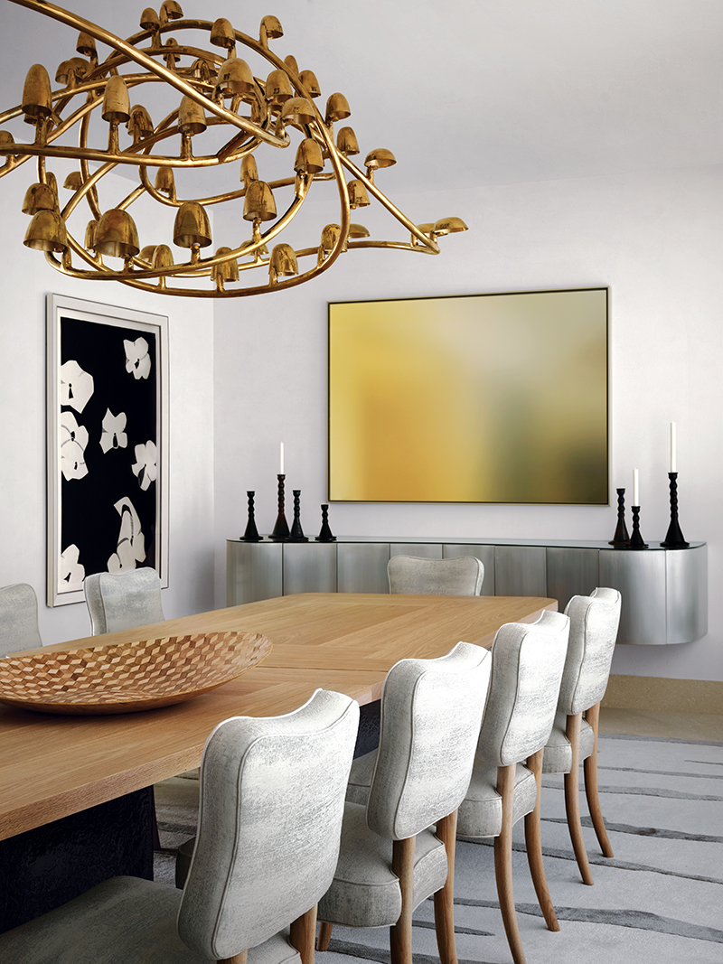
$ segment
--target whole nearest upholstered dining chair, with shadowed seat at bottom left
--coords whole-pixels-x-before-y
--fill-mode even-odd
[[[221,723],[203,751],[184,889],[106,880],[1,934],[0,960],[245,964],[248,951],[249,964],[312,964],[358,724],[357,703],[325,690],[284,716]]]

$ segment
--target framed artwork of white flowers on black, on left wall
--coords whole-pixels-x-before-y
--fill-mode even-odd
[[[168,585],[168,318],[47,296],[50,606],[150,566]]]

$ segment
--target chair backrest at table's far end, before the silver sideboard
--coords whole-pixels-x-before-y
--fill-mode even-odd
[[[392,555],[387,565],[390,593],[416,596],[479,596],[485,567],[473,555],[452,559],[420,559]]]

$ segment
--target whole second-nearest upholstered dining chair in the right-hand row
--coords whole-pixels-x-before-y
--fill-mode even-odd
[[[388,926],[392,964],[412,964],[412,912],[434,894],[442,964],[456,962],[456,811],[469,785],[490,666],[488,651],[458,643],[441,658],[403,659],[389,670],[368,799],[344,805],[334,882],[319,901],[319,950],[333,924]]]

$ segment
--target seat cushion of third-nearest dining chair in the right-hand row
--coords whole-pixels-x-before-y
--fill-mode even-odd
[[[497,792],[496,766],[475,764],[467,796],[457,812],[458,837],[497,837],[502,830],[502,797]],[[535,775],[523,763],[515,768],[513,823],[535,809]]]

